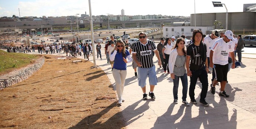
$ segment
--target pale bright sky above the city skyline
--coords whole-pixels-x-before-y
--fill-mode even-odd
[[[182,1],[182,3],[181,3]],[[224,7],[213,7],[211,1],[221,1],[228,12],[242,12],[243,4],[256,0],[91,0],[92,15],[173,15],[190,16],[196,13],[225,13]],[[194,10],[194,3],[196,10]],[[89,13],[89,0],[0,0],[0,17],[69,16]],[[79,15],[80,16],[80,15]]]

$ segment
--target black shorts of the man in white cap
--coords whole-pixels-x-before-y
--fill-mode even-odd
[[[229,64],[220,65],[220,64],[214,64],[215,65],[215,78],[217,81],[227,81],[227,72],[229,70]]]

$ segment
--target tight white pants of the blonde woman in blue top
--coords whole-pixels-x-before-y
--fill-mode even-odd
[[[117,93],[118,99],[120,100],[122,99],[122,94],[124,91],[124,83],[125,83],[125,77],[127,75],[127,71],[113,69],[112,74],[116,83],[116,93]]]

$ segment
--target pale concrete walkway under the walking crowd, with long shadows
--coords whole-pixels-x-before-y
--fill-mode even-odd
[[[37,53],[37,50],[36,50]],[[34,54],[34,53],[31,53]],[[38,53],[37,53],[38,54]],[[54,54],[65,56],[65,54]],[[209,88],[206,101],[209,107],[199,103],[201,83],[198,81],[195,97],[198,104],[185,106],[181,101],[182,84],[178,89],[178,104],[173,103],[173,80],[170,74],[164,73],[154,63],[157,70],[158,84],[155,86],[155,100],[142,100],[142,90],[134,76],[132,64],[128,64],[127,77],[121,105],[127,129],[253,129],[256,127],[256,55],[242,54],[242,66],[231,69],[228,73],[226,92],[229,98],[219,96],[220,86],[216,87],[216,94],[210,93],[211,74],[208,74]],[[83,56],[77,56],[83,59]],[[93,62],[92,56],[90,61]],[[111,65],[106,63],[106,56],[102,47],[102,60],[96,58],[96,64],[107,74],[115,88],[115,81],[111,72]],[[147,94],[149,85],[147,80]],[[188,77],[188,87],[190,78]],[[150,97],[148,97],[150,98]],[[187,94],[187,101],[190,102]]]

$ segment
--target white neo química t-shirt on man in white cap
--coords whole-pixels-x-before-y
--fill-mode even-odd
[[[234,43],[232,41],[226,43],[221,38],[213,43],[211,50],[213,50],[213,63],[226,65],[228,64],[229,52],[234,51]]]

